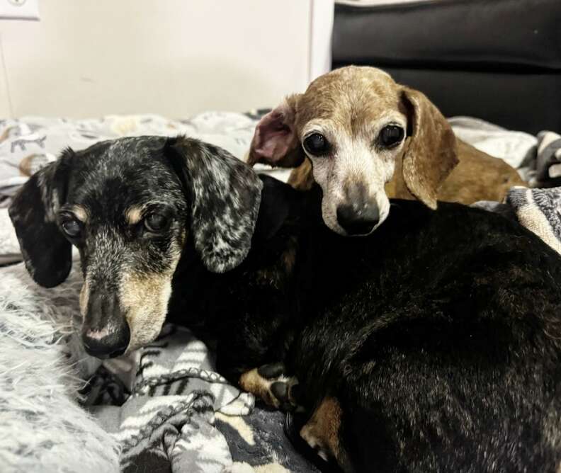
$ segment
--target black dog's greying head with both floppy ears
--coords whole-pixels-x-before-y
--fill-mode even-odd
[[[193,139],[123,138],[67,149],[16,195],[10,217],[26,267],[42,286],[81,257],[81,338],[99,358],[159,334],[183,252],[213,272],[251,244],[261,181],[222,149]]]

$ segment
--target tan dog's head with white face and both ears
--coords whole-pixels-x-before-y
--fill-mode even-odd
[[[397,164],[409,191],[436,208],[438,188],[458,163],[438,109],[372,67],[320,76],[261,119],[249,164],[295,167],[305,156],[323,191],[324,222],[344,235],[369,234],[385,220],[384,186]]]

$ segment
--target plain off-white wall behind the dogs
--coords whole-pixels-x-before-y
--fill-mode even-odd
[[[276,105],[310,79],[318,1],[40,0],[0,21],[0,118]]]

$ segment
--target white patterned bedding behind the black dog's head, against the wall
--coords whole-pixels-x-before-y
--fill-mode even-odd
[[[187,135],[243,159],[255,125],[266,111],[206,112],[185,120],[161,115],[107,115],[83,120],[29,116],[0,120],[0,207],[7,207],[13,193],[29,176],[57,159],[65,147],[78,151],[118,137]],[[269,171],[281,181],[286,181],[290,173],[286,169]]]

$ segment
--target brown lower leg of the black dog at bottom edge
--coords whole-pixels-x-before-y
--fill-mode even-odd
[[[339,440],[341,412],[336,398],[325,397],[310,420],[300,429],[300,437],[317,451],[317,455],[326,461],[330,457],[334,458],[345,472],[349,472],[352,469]]]

